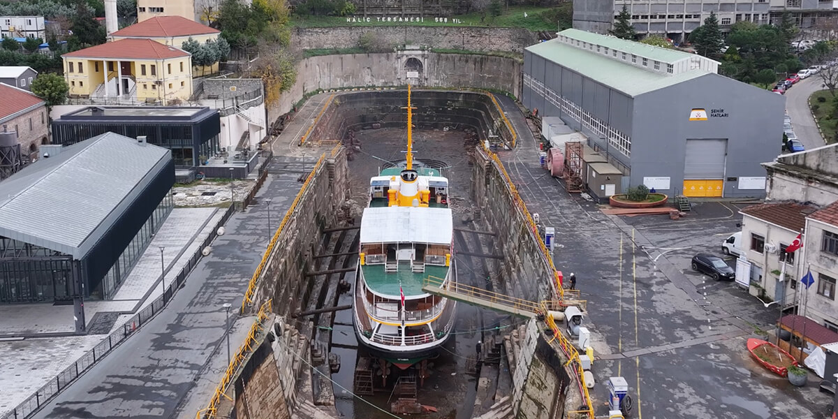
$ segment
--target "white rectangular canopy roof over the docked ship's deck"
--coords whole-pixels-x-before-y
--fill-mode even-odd
[[[361,218],[361,244],[414,242],[450,245],[452,234],[450,208],[366,208]]]

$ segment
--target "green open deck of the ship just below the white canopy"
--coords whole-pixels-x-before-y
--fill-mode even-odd
[[[399,272],[384,272],[384,265],[363,265],[361,272],[370,290],[398,297],[401,283],[405,297],[410,297],[426,293],[422,291],[422,282],[425,278],[444,279],[448,273],[448,266],[426,265],[425,272],[414,273],[411,272],[411,266],[407,263],[401,263]]]

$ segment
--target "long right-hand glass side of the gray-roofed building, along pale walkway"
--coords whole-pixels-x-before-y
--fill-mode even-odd
[[[154,209],[152,215],[142,225],[142,228],[137,231],[137,235],[134,236],[131,243],[122,251],[119,260],[111,266],[111,270],[102,278],[99,285],[91,291],[91,298],[109,299],[113,297],[116,290],[122,285],[122,281],[131,272],[131,268],[137,262],[137,259],[146,250],[148,243],[152,241],[152,235],[160,229],[160,225],[163,225],[163,221],[166,220],[166,217],[172,212],[173,208],[174,200],[172,193],[169,192],[163,198],[163,201],[160,202],[157,209]]]

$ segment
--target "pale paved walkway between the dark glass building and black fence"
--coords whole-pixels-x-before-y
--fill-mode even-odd
[[[176,208],[128,274],[114,300],[85,302],[90,334],[74,336],[73,306],[15,304],[0,306],[0,414],[17,406],[82,354],[106,339],[161,292],[160,250],[167,281],[174,278],[224,214],[217,208]],[[39,339],[39,334],[67,334]],[[23,336],[26,336],[24,339]]]

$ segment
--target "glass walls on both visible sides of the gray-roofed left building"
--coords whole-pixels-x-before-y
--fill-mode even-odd
[[[85,284],[98,283],[89,297],[113,297],[173,207],[172,193],[169,192],[107,275],[101,281],[85,278]],[[73,264],[69,255],[0,237],[0,303],[71,300]]]

